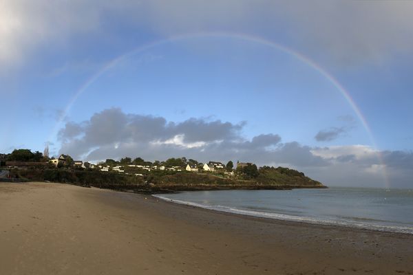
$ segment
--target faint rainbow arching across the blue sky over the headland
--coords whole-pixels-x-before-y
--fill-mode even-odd
[[[211,37],[211,38],[220,38],[220,37],[222,37],[222,38],[239,39],[239,40],[242,40],[242,41],[249,41],[249,42],[252,42],[252,43],[258,43],[260,45],[265,45],[267,47],[271,47],[275,50],[279,50],[279,51],[284,52],[284,53],[286,53],[290,56],[293,56],[298,61],[301,61],[302,63],[305,63],[306,65],[308,65],[308,67],[310,67],[312,69],[315,69],[316,72],[318,72],[321,76],[326,78],[326,80],[328,80],[331,83],[331,85],[334,86],[337,91],[339,91],[339,93],[341,94],[341,96],[343,96],[343,98],[346,100],[346,102],[348,102],[348,104],[350,105],[350,107],[352,108],[354,113],[357,115],[357,118],[359,119],[359,121],[363,125],[363,128],[366,130],[366,133],[367,133],[368,137],[370,138],[370,142],[372,143],[372,146],[377,151],[377,157],[378,157],[379,161],[381,162],[381,164],[383,165],[383,179],[385,181],[385,185],[386,185],[387,188],[390,187],[387,174],[385,173],[385,168],[384,168],[385,164],[383,162],[383,158],[381,157],[381,154],[377,150],[377,144],[376,144],[376,142],[373,138],[370,126],[368,126],[366,118],[363,116],[363,114],[361,113],[359,107],[357,107],[357,104],[354,102],[354,100],[352,99],[352,97],[350,96],[348,91],[346,91],[346,89],[344,89],[343,85],[341,85],[339,83],[339,81],[334,76],[329,74],[326,71],[326,69],[322,68],[320,65],[315,63],[310,58],[304,56],[303,54],[300,54],[299,52],[296,52],[295,50],[291,50],[290,48],[285,47],[284,45],[280,45],[280,44],[275,43],[273,41],[269,41],[269,40],[264,39],[260,36],[252,36],[250,34],[231,33],[231,32],[230,33],[228,33],[228,32],[196,32],[196,33],[193,33],[193,34],[182,34],[182,35],[178,35],[178,36],[172,36],[172,37],[169,37],[167,39],[160,39],[160,40],[157,40],[157,41],[153,41],[153,42],[147,43],[145,45],[141,45],[140,47],[136,47],[134,50],[131,50],[131,51],[125,53],[125,54],[122,54],[122,55],[112,59],[111,61],[109,61],[108,63],[103,65],[103,67],[101,67],[98,70],[98,72],[96,72],[94,75],[92,75],[90,78],[88,78],[85,81],[85,83],[83,83],[83,85],[81,85],[81,87],[79,87],[79,89],[74,93],[74,96],[72,96],[70,101],[67,103],[67,105],[66,105],[65,109],[63,110],[63,113],[61,114],[59,120],[56,122],[56,124],[54,126],[54,129],[52,130],[52,132],[50,134],[50,140],[52,139],[52,137],[54,137],[56,135],[59,127],[61,127],[61,124],[63,123],[64,118],[70,112],[70,109],[75,104],[75,102],[79,98],[79,96],[81,96],[87,90],[87,88],[90,85],[92,85],[92,83],[94,83],[96,80],[98,80],[98,78],[100,78],[100,76],[105,74],[105,72],[107,72],[109,69],[115,67],[118,63],[120,63],[120,61],[126,60],[127,58],[129,58],[131,56],[134,56],[135,54],[138,54],[140,52],[144,52],[145,50],[149,50],[151,47],[156,47],[156,46],[160,46],[160,45],[163,45],[163,44],[172,43],[172,42],[176,42],[176,41],[182,41],[182,40],[186,40],[186,39],[208,38],[208,37]]]

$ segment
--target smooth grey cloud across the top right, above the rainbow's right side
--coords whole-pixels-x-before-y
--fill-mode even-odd
[[[340,65],[381,63],[413,49],[411,1],[151,1],[164,34],[226,30],[288,38],[296,50]]]

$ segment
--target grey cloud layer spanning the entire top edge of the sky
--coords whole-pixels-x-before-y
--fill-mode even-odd
[[[281,36],[295,50],[341,65],[383,62],[413,49],[412,1],[3,0],[0,65],[24,63],[34,50],[79,34],[118,34],[109,24],[114,19],[163,37],[223,31],[279,42]]]

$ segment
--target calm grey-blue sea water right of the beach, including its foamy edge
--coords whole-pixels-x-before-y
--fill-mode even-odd
[[[413,234],[413,190],[332,187],[192,191],[154,196],[256,217]]]

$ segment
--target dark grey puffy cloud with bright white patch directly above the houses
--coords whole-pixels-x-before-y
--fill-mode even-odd
[[[123,113],[118,108],[95,113],[84,122],[67,122],[59,131],[61,153],[92,160],[107,157],[165,159],[186,155],[210,159],[248,160],[265,164],[290,162],[301,166],[325,164],[310,148],[297,142],[281,144],[276,134],[261,134],[247,140],[242,136],[245,122],[189,118],[168,122],[151,115]]]

